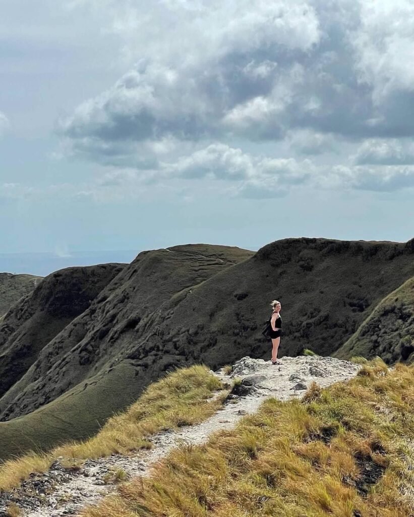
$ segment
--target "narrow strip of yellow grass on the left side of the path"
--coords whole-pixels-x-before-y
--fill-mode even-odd
[[[29,453],[5,462],[0,466],[0,490],[18,485],[30,472],[45,472],[58,457],[68,465],[79,466],[89,458],[150,448],[147,439],[150,435],[163,429],[193,425],[211,416],[228,393],[223,392],[221,398],[209,400],[221,389],[219,379],[203,366],[192,366],[167,375],[150,385],[124,413],[111,417],[97,435],[83,442],[71,441],[48,454]],[[29,424],[33,423],[28,421],[30,417],[22,418]],[[69,424],[69,421],[65,423]]]

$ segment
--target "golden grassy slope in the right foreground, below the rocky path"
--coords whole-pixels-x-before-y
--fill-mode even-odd
[[[374,361],[305,399],[266,401],[82,517],[409,517],[414,369]]]

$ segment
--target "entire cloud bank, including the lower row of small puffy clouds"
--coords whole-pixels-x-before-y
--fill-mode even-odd
[[[251,196],[304,183],[411,185],[411,170],[397,167],[412,156],[399,139],[414,135],[408,0],[78,0],[71,8],[106,16],[131,67],[60,119],[62,154],[134,169],[141,185],[220,179]],[[360,145],[354,155],[351,145]]]

